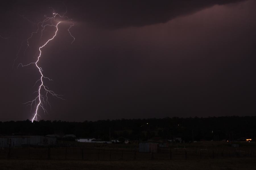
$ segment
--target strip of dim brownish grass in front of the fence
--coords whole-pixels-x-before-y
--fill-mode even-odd
[[[0,169],[18,170],[116,170],[116,169],[217,169],[217,170],[243,170],[255,169],[255,158],[207,159],[207,160],[172,160],[172,161],[74,161],[74,160],[0,160]]]

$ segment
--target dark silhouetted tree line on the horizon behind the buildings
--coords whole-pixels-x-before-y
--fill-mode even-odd
[[[256,116],[208,118],[150,118],[66,122],[40,120],[0,122],[0,135],[74,134],[77,138],[94,137],[105,141],[124,137],[129,140],[182,138],[185,142],[202,140],[256,140]]]

